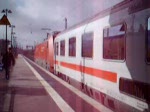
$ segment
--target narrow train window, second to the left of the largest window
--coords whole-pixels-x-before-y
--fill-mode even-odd
[[[69,56],[76,56],[76,38],[69,39]]]

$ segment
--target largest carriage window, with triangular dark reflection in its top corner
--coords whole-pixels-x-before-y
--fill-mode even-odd
[[[103,58],[124,60],[125,25],[120,24],[103,30]]]

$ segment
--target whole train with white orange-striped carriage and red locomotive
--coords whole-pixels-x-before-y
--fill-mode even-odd
[[[124,0],[50,35],[34,61],[115,112],[150,112],[150,1]]]

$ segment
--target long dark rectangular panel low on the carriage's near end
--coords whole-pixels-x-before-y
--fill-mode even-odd
[[[146,102],[150,102],[150,91],[148,91],[149,88],[150,84],[148,83],[126,79],[123,77],[119,79],[119,90],[122,93],[140,98]]]

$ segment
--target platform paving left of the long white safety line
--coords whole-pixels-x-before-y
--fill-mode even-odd
[[[0,112],[57,112],[52,102],[22,57],[16,59],[9,80],[0,72]]]

